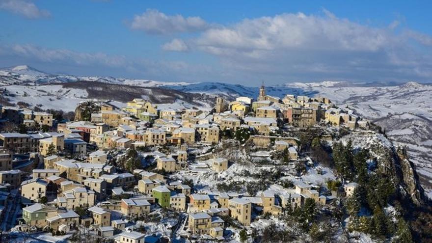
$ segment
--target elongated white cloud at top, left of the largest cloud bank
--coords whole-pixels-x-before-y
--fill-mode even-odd
[[[175,32],[195,32],[208,27],[200,17],[168,16],[156,9],[147,9],[142,15],[135,15],[131,28],[149,34],[172,34]]]

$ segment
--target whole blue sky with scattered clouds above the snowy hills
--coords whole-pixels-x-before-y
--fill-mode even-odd
[[[0,0],[0,67],[258,85],[431,82],[432,1]]]

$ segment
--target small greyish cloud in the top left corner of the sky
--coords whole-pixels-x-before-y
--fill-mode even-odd
[[[30,0],[0,0],[0,9],[23,15],[29,19],[49,17],[51,15],[48,10],[39,9]]]

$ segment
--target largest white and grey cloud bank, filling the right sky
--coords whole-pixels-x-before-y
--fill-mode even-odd
[[[372,27],[324,9],[324,15],[285,13],[211,27],[188,43],[219,57],[232,77],[270,82],[430,81],[431,36],[398,31],[398,25]]]

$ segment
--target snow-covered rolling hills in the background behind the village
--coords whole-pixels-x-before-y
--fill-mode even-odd
[[[88,88],[85,85],[79,85],[82,82],[95,82],[97,84]],[[98,94],[96,89],[104,89],[101,83],[116,84],[117,86],[109,86],[111,94],[99,97],[101,92]],[[11,103],[21,101],[31,106],[42,105],[43,108],[63,108],[66,110],[73,110],[79,101],[89,98],[108,99],[108,97],[114,97],[113,102],[118,106],[124,106],[124,97],[120,97],[117,93],[125,92],[125,90],[129,90],[129,93],[124,93],[128,98],[129,95],[140,95],[154,101],[158,101],[158,99],[177,100],[177,105],[189,104],[189,106],[192,106],[190,99],[187,102],[181,101],[182,97],[188,97],[188,95],[184,95],[185,93],[203,94],[202,97],[192,95],[195,97],[192,98],[195,99],[193,103],[202,106],[209,103],[208,101],[213,101],[216,95],[224,96],[227,99],[234,99],[238,96],[252,98],[258,96],[258,87],[240,84],[162,82],[99,76],[53,75],[26,65],[0,69],[0,86],[8,91],[6,98]],[[137,89],[136,91],[131,89],[134,86],[160,88],[161,90],[158,91],[159,93],[145,89]],[[113,92],[116,89],[119,92]],[[166,89],[176,90],[180,93],[174,94],[163,91]],[[311,97],[322,95],[339,106],[353,108],[356,113],[385,128],[387,135],[394,141],[400,145],[408,146],[409,154],[417,166],[423,185],[432,189],[432,85],[416,82],[407,82],[403,85],[343,81],[293,82],[268,86],[266,92],[271,96],[280,98],[285,94]]]

